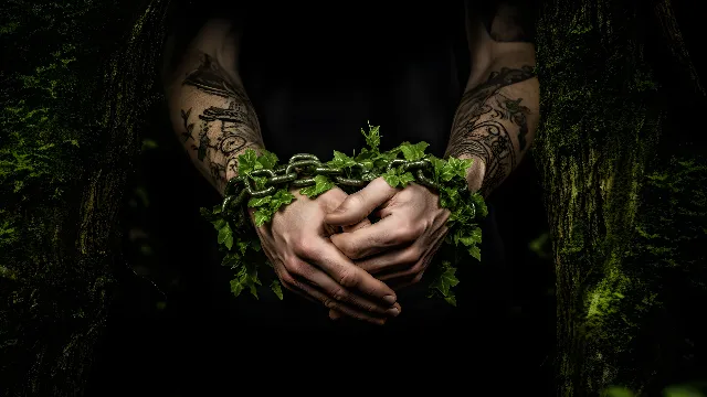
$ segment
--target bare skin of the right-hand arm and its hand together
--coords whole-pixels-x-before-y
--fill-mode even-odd
[[[535,47],[521,10],[500,2],[494,15],[475,13],[467,2],[466,32],[473,68],[454,116],[446,155],[473,159],[466,181],[488,196],[517,167],[539,122]],[[446,235],[450,213],[420,185],[392,189],[373,181],[349,195],[325,222],[351,226],[331,242],[367,271],[397,290],[419,282]],[[379,212],[382,221],[363,219]],[[344,313],[329,311],[331,319]]]

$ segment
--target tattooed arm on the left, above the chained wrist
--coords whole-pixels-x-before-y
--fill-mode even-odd
[[[239,42],[233,24],[211,20],[186,50],[175,52],[168,42],[162,73],[172,126],[221,194],[238,175],[238,155],[263,148],[257,117],[238,73]]]

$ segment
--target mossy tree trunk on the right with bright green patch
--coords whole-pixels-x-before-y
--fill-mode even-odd
[[[656,395],[695,375],[704,332],[683,304],[707,281],[698,74],[669,0],[545,1],[538,63],[558,395]]]

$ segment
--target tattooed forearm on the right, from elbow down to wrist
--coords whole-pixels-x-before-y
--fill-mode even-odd
[[[539,122],[539,84],[532,62],[498,58],[472,76],[452,125],[447,155],[474,159],[472,191],[497,187],[528,151]]]

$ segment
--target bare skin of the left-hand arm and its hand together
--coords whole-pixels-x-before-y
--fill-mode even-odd
[[[238,175],[238,157],[264,148],[255,110],[238,71],[239,34],[225,21],[208,22],[162,71],[172,126],[197,169],[221,194]],[[173,44],[173,43],[172,43]],[[257,228],[283,286],[349,316],[382,324],[400,313],[395,292],[347,258],[324,223],[346,193],[300,196]],[[306,219],[306,222],[304,222]]]

